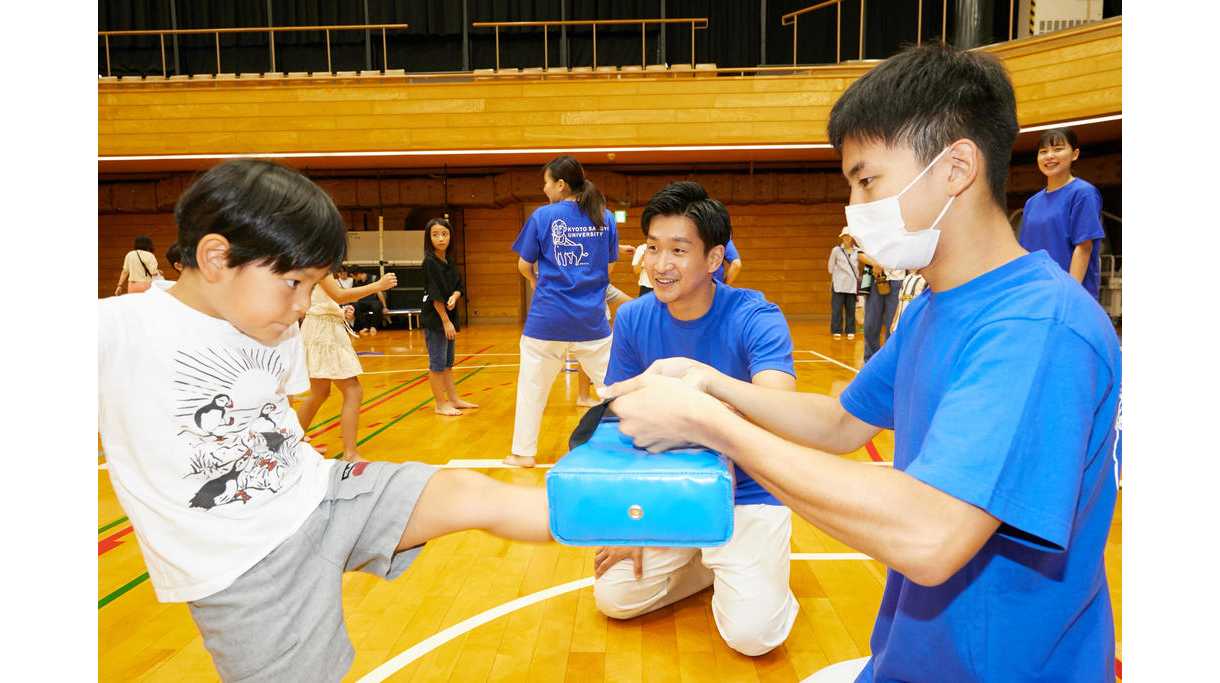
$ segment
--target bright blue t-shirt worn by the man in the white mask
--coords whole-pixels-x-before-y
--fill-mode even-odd
[[[894,468],[1002,523],[941,585],[889,570],[858,681],[1114,681],[1119,359],[1043,252],[911,301],[839,401],[894,431]]]

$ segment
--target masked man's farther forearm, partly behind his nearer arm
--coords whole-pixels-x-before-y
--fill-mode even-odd
[[[844,428],[838,400],[804,392],[781,392],[719,376],[708,393],[755,424],[788,440],[834,454],[863,446],[878,429]]]

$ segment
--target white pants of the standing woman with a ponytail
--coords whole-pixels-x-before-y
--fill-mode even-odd
[[[517,370],[517,410],[512,421],[512,455],[538,455],[538,431],[547,396],[555,376],[564,368],[569,351],[576,356],[584,374],[601,387],[610,365],[610,337],[592,342],[548,342],[521,335],[521,367]]]

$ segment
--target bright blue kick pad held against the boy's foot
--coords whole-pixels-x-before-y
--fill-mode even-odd
[[[711,548],[733,535],[733,473],[719,452],[651,454],[601,422],[547,472],[550,534],[565,545]]]

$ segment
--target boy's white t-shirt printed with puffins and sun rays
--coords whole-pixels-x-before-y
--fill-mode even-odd
[[[295,326],[265,346],[162,288],[98,302],[101,443],[159,600],[227,588],[321,502],[333,462],[288,405],[307,389]]]

